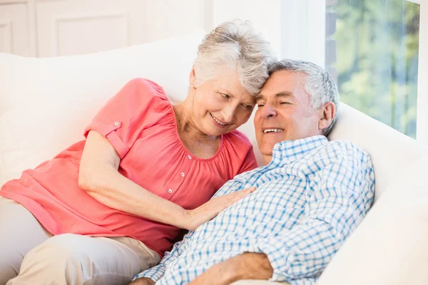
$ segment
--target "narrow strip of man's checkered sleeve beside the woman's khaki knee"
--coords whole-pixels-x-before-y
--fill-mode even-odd
[[[180,242],[176,242],[174,244],[173,249],[171,249],[170,252],[165,252],[163,259],[158,265],[138,273],[136,276],[133,277],[132,280],[135,280],[141,277],[146,277],[146,278],[152,279],[156,283],[159,279],[163,277],[163,274],[165,274],[165,270],[168,267],[168,264],[170,264],[175,259],[177,259],[177,257],[181,253],[183,253],[185,249],[188,247],[188,243],[191,237],[193,236],[193,233],[194,232],[190,231],[187,234],[185,234],[183,240]]]

